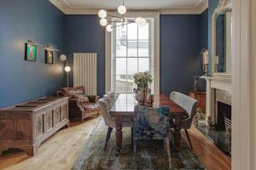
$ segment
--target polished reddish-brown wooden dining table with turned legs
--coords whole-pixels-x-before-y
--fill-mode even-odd
[[[181,119],[182,116],[186,116],[188,113],[181,106],[177,105],[172,99],[168,98],[164,94],[153,95],[153,104],[150,107],[159,107],[167,105],[170,107],[170,121],[174,121],[174,145],[175,150],[179,150],[181,139]],[[119,94],[115,104],[111,108],[111,114],[115,117],[116,123],[116,147],[117,150],[121,150],[122,147],[122,123],[125,116],[134,115],[134,107],[137,105],[137,100],[134,99],[133,94]]]

